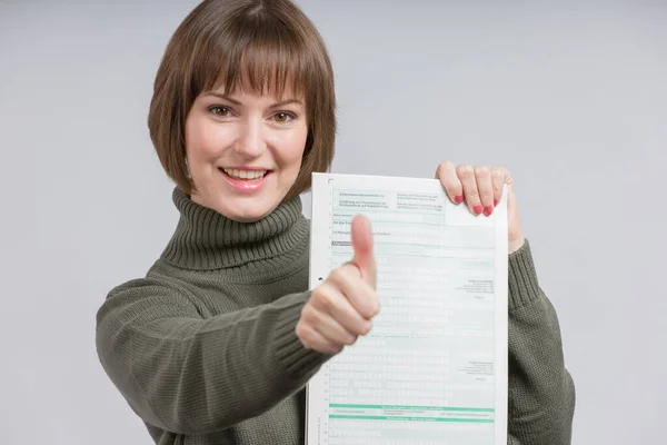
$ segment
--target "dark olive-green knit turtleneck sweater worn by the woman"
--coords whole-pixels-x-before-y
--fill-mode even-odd
[[[107,296],[97,352],[159,445],[296,445],[305,385],[330,356],[295,334],[309,227],[296,197],[237,222],[173,191],[176,231],[146,277]],[[574,385],[528,241],[509,256],[509,444],[570,442]]]

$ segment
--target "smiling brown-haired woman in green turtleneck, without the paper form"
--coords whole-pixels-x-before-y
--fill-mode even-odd
[[[329,169],[335,122],[329,57],[288,0],[205,1],[169,42],[149,128],[180,220],[146,277],[112,289],[97,317],[100,362],[157,444],[303,443],[306,383],[370,329],[366,219],[354,221],[355,258],[307,290],[299,194]],[[574,386],[512,180],[451,162],[437,177],[477,215],[510,185],[508,442],[569,443]]]

